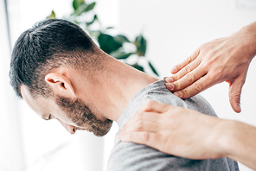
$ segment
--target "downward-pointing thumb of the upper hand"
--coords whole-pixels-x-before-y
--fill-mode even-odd
[[[241,111],[240,95],[244,84],[245,79],[240,75],[229,85],[229,103],[231,104],[233,110],[237,113],[240,113]]]

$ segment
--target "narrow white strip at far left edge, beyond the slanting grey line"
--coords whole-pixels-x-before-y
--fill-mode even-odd
[[[3,1],[0,1],[0,170],[23,171],[25,163],[15,94],[9,85],[10,42]]]

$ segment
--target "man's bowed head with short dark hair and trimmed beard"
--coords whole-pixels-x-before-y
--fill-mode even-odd
[[[41,117],[63,126],[104,136],[112,121],[93,110],[74,91],[73,76],[92,72],[102,51],[73,22],[50,19],[35,24],[16,41],[10,63],[10,85]],[[74,75],[72,75],[74,74]]]

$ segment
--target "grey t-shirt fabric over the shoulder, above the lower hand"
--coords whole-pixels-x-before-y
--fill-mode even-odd
[[[138,109],[140,109],[146,102],[150,100],[175,106],[182,106],[184,108],[200,111],[207,115],[216,116],[211,105],[208,104],[208,102],[202,98],[202,96],[196,95],[185,100],[178,98],[165,87],[165,82],[162,79],[144,87],[144,89],[139,91],[131,99],[129,104],[126,106],[125,111],[123,111],[121,116],[118,118],[119,129],[121,129],[125,123],[127,123],[131,117],[135,115]]]

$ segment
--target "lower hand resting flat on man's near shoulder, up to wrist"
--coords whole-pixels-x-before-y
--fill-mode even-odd
[[[170,155],[190,159],[219,158],[226,155],[216,144],[221,142],[217,141],[222,138],[221,132],[226,131],[221,130],[224,122],[197,111],[150,101],[125,124],[119,138]]]

